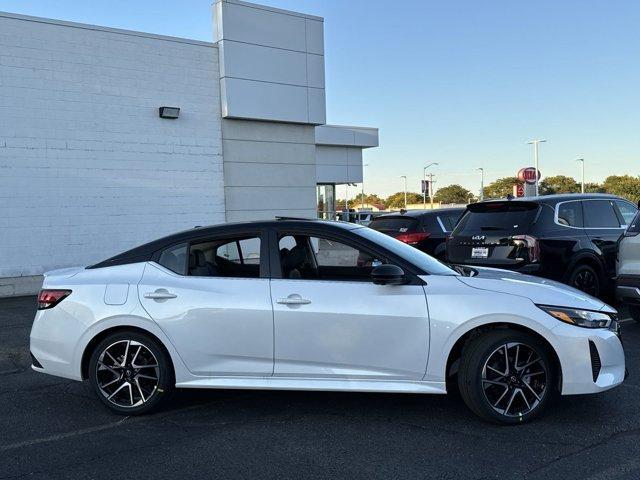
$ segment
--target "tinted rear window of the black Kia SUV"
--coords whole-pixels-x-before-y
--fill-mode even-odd
[[[454,235],[475,235],[480,232],[505,232],[509,235],[527,233],[536,219],[538,205],[525,202],[478,203],[467,208]]]

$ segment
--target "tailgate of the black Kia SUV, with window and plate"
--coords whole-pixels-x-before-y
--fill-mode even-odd
[[[539,205],[526,201],[469,205],[447,240],[447,258],[462,263],[517,268],[538,260],[538,241],[529,235]]]

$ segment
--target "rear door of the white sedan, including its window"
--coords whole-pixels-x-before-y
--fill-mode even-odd
[[[196,375],[273,373],[268,247],[261,232],[171,246],[149,262],[140,301]]]

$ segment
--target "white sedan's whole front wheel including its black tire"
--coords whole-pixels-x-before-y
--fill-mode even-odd
[[[509,345],[511,346],[509,347]],[[517,353],[514,355],[514,349],[517,345],[520,347],[517,347]],[[535,363],[532,368],[545,370],[544,381],[542,381],[541,375],[532,376],[533,372],[529,368],[524,368],[515,375],[505,375],[502,377],[504,379],[503,385],[496,385],[499,382],[488,379],[487,374],[491,372],[489,370],[491,368],[490,361],[494,355],[502,355],[500,352],[505,346],[507,346],[507,359],[511,356],[511,359],[514,360],[513,357],[518,356],[521,351],[527,356],[528,353],[535,352],[540,357],[540,363]],[[525,349],[525,346],[530,350]],[[535,357],[528,357],[528,361],[532,359]],[[521,367],[526,365],[526,362],[522,363],[521,358],[517,360],[517,364]],[[504,368],[503,372],[511,373],[509,370],[510,368]],[[495,371],[493,370],[493,372]],[[491,373],[493,374],[493,372]],[[528,383],[529,386],[525,383]],[[518,424],[533,419],[545,409],[548,402],[555,396],[555,385],[556,372],[552,356],[547,346],[532,335],[510,329],[491,330],[471,340],[462,351],[458,372],[460,395],[471,411],[489,422]],[[517,390],[522,391],[517,392]],[[539,399],[536,399],[534,394],[539,395]],[[500,398],[497,402],[495,402],[496,397]],[[495,405],[492,402],[495,402]],[[525,402],[531,403],[530,409],[527,410],[529,403]],[[506,410],[506,413],[498,411],[499,408],[496,405],[500,409]]]

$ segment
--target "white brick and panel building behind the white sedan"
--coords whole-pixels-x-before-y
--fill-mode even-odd
[[[213,9],[214,43],[0,12],[0,296],[195,225],[314,217],[362,181],[378,132],[324,125],[323,19]]]

